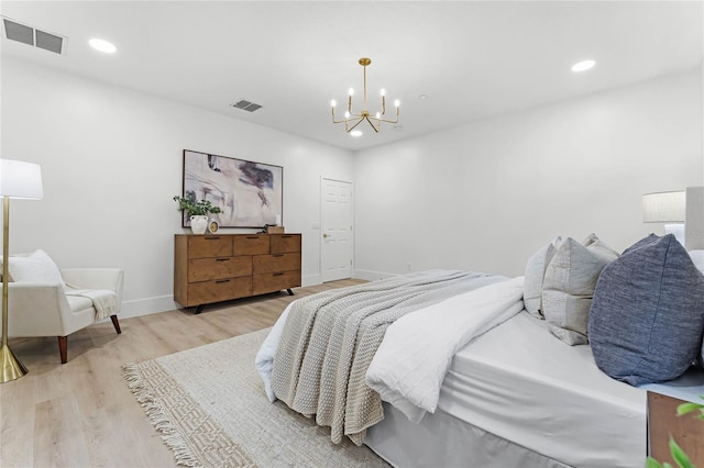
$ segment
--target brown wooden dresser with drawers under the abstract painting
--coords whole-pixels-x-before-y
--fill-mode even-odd
[[[300,234],[176,234],[174,300],[205,304],[300,286]]]

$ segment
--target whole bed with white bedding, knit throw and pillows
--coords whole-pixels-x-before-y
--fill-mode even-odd
[[[691,401],[704,394],[704,372],[692,365],[704,355],[704,266],[671,241],[648,236],[617,254],[595,235],[556,238],[522,277],[430,270],[301,298],[284,311],[255,364],[270,400],[330,426],[333,442],[364,443],[393,466],[642,467],[646,390]],[[689,345],[678,357],[689,361],[683,369],[660,364],[674,378],[658,379],[642,366],[624,377],[619,366],[630,364],[622,361],[635,357],[613,357],[632,349],[614,352],[622,344],[600,330],[618,328],[628,339],[628,324],[615,321],[632,322],[629,305],[614,303],[610,292],[623,269],[632,277],[653,257],[679,259],[663,264],[669,272],[659,280],[674,271],[683,289],[666,292],[692,301],[692,338],[682,338]],[[591,294],[580,281],[592,285]],[[646,301],[664,315],[663,301]],[[557,314],[556,304],[563,308]]]

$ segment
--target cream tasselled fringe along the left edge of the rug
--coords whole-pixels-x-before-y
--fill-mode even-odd
[[[124,364],[122,366],[124,379],[134,394],[138,403],[144,409],[146,416],[154,428],[162,434],[162,441],[174,453],[177,465],[187,467],[201,467],[200,460],[191,452],[190,447],[170,422],[161,404],[156,402],[140,374],[139,364]]]

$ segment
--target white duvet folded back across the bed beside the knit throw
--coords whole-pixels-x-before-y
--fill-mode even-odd
[[[465,292],[391,324],[366,371],[366,383],[418,422],[435,413],[454,354],[524,308],[524,278]]]

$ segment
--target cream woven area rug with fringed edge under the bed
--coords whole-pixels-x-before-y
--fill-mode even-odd
[[[128,386],[178,465],[388,467],[366,446],[270,403],[254,356],[270,328],[138,364]]]

